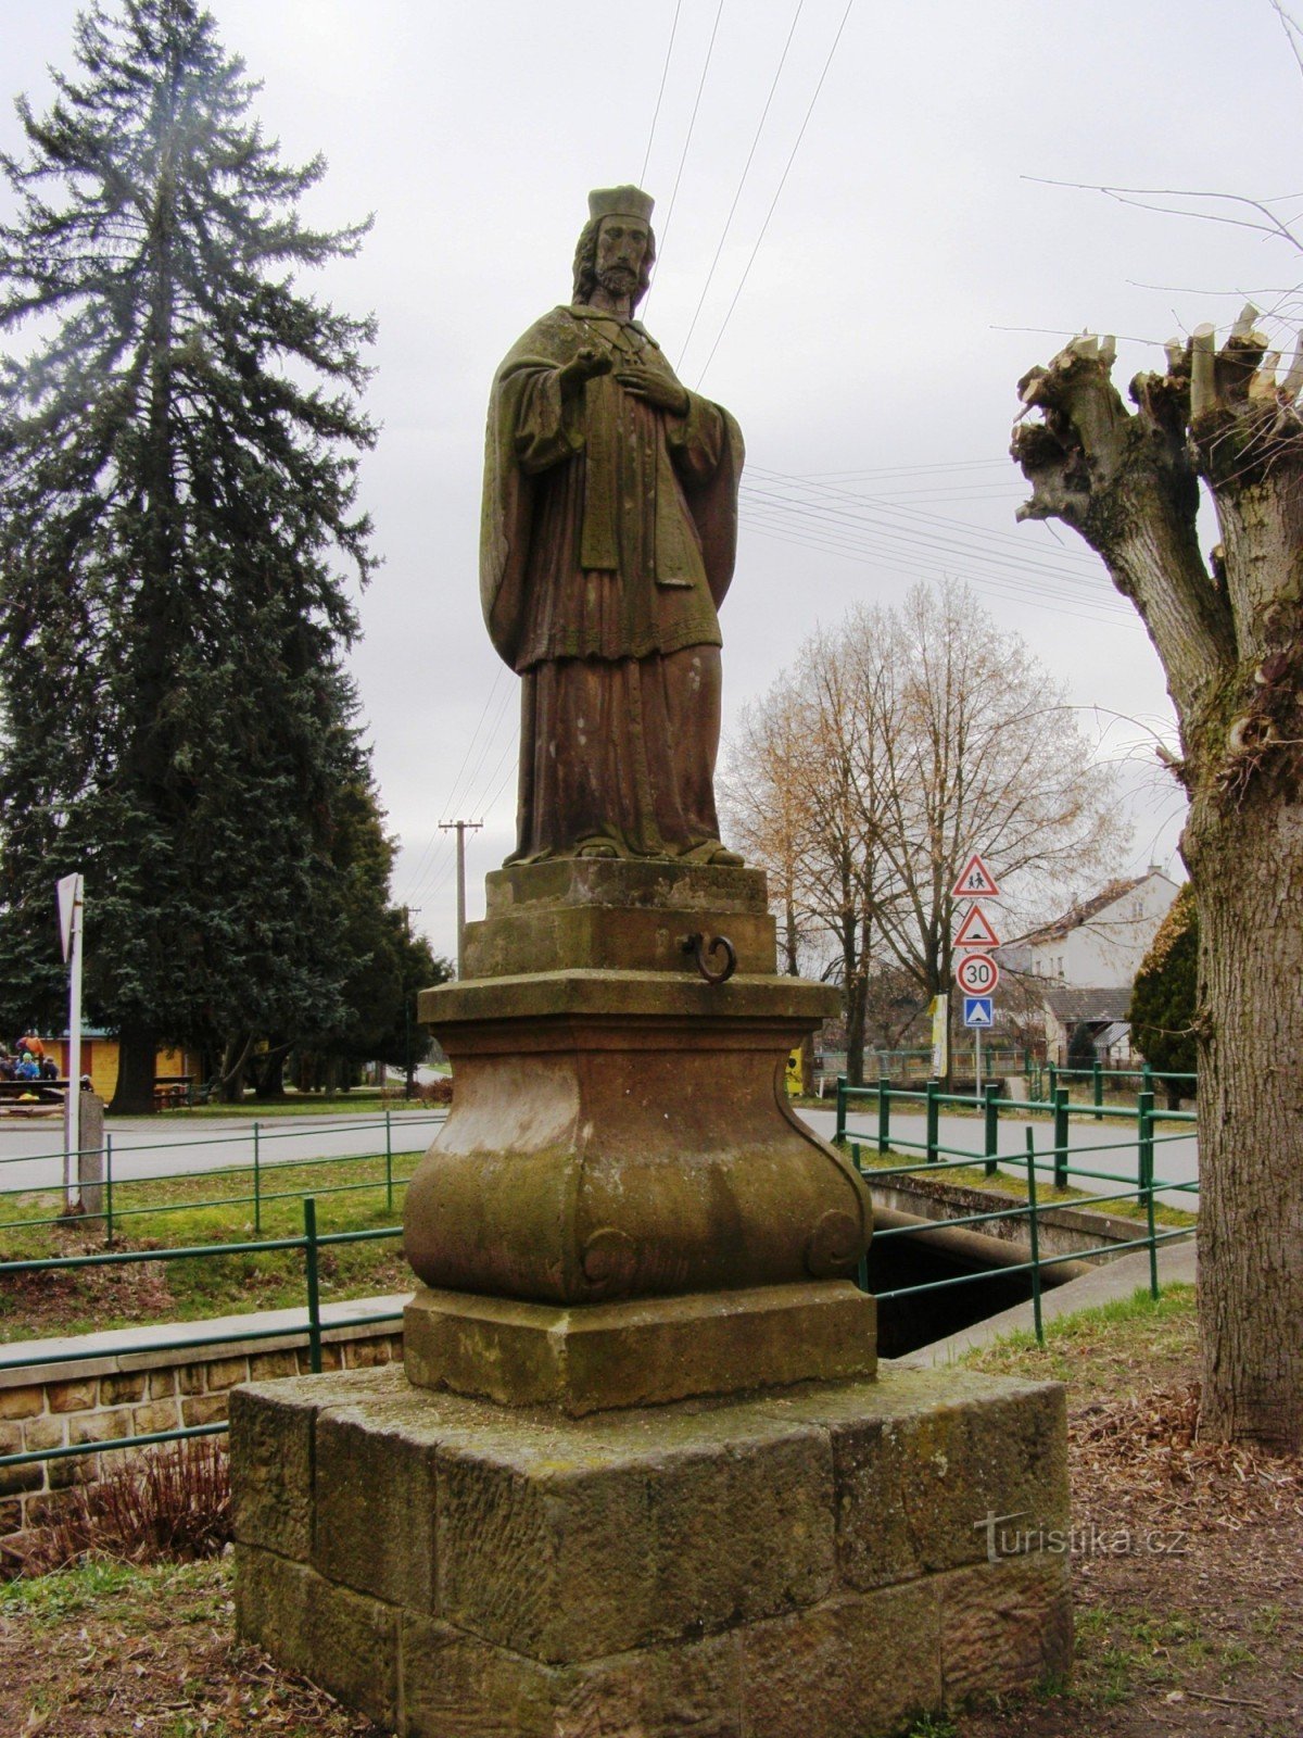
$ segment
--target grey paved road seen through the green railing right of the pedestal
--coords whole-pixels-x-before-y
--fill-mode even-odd
[[[837,1118],[832,1111],[804,1111],[801,1112],[810,1126],[823,1135],[827,1140],[832,1138]],[[1018,1170],[1025,1173],[1027,1168],[1027,1130],[1032,1130],[1032,1138],[1035,1140],[1037,1156],[1044,1156],[1048,1161],[1053,1152],[1053,1130],[1046,1118],[1020,1118],[1011,1111],[1001,1111],[999,1131],[1001,1131],[1001,1156],[1009,1156],[1009,1159],[1018,1159]],[[1180,1123],[1159,1123],[1154,1137],[1154,1173],[1162,1182],[1188,1184],[1199,1180],[1199,1140],[1192,1133],[1185,1133],[1188,1124]],[[851,1116],[848,1123],[848,1131],[860,1131],[865,1135],[865,1145],[876,1145],[877,1142],[877,1105],[869,1104],[863,1114],[857,1119]],[[1180,1130],[1180,1133],[1176,1133]],[[982,1121],[976,1116],[942,1116],[938,1119],[938,1135],[943,1147],[954,1147],[956,1152],[973,1152],[982,1158]],[[891,1107],[891,1145],[898,1152],[907,1152],[910,1158],[923,1158],[923,1144],[926,1138],[926,1123],[923,1116],[910,1116],[905,1111]],[[909,1147],[907,1142],[917,1144],[917,1152]],[[1070,1177],[1074,1189],[1088,1189],[1091,1194],[1114,1194],[1128,1184],[1134,1185],[1138,1170],[1136,1154],[1136,1124],[1133,1121],[1122,1121],[1121,1118],[1107,1118],[1103,1123],[1088,1121],[1084,1118],[1072,1118],[1068,1123],[1068,1147],[1072,1149],[1072,1164],[1081,1164],[1091,1171],[1108,1171],[1114,1177],[1126,1178],[1126,1184],[1107,1182],[1105,1178],[1093,1177]],[[1089,1152],[1089,1147],[1101,1147],[1105,1151]],[[1002,1166],[1013,1175],[1013,1166]],[[1048,1177],[1046,1171],[1037,1170],[1037,1177]],[[1171,1206],[1181,1206],[1188,1211],[1197,1208],[1197,1197],[1185,1191],[1161,1192],[1159,1201],[1167,1201]]]

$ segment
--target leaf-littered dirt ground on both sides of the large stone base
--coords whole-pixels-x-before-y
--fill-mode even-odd
[[[912,1738],[1300,1738],[1303,1462],[1199,1441],[1188,1295],[978,1363],[1068,1380],[1077,1668]],[[228,1561],[0,1587],[0,1733],[375,1731],[235,1641]]]

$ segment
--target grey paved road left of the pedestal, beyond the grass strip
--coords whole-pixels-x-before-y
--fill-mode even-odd
[[[429,1145],[445,1112],[422,1105],[391,1111],[393,1151]],[[113,1178],[215,1171],[254,1163],[250,1116],[160,1123],[151,1118],[111,1118]],[[259,1159],[344,1159],[384,1152],[384,1116],[273,1116],[259,1123]],[[0,1121],[0,1192],[54,1187],[63,1178],[63,1124]],[[0,1215],[3,1217],[3,1215]]]

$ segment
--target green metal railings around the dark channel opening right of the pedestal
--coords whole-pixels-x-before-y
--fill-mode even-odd
[[[855,1104],[863,1104],[865,1100],[876,1100],[876,1126],[874,1131],[857,1130],[850,1126],[850,1114]],[[891,1135],[891,1107],[893,1104],[909,1104],[912,1109],[923,1107],[924,1114],[924,1140],[903,1140],[898,1135],[893,1140]],[[969,1111],[980,1111],[982,1114],[982,1151],[966,1151],[959,1147],[943,1147],[938,1140],[938,1123],[940,1109],[943,1105],[964,1107]],[[874,1232],[874,1243],[883,1243],[891,1237],[909,1237],[917,1236],[921,1231],[943,1229],[961,1229],[975,1225],[992,1225],[995,1222],[1025,1220],[1027,1222],[1027,1241],[1029,1241],[1029,1260],[1013,1262],[1009,1265],[999,1265],[992,1269],[982,1269],[973,1274],[959,1274],[952,1279],[933,1279],[917,1286],[902,1286],[893,1291],[879,1291],[879,1302],[888,1302],[891,1298],[917,1297],[931,1291],[943,1291],[954,1286],[980,1284],[983,1279],[1008,1277],[1011,1274],[1029,1274],[1032,1288],[1032,1314],[1035,1324],[1037,1342],[1044,1343],[1044,1326],[1041,1319],[1041,1288],[1042,1272],[1048,1267],[1056,1267],[1065,1262],[1091,1260],[1101,1255],[1122,1255],[1131,1250],[1148,1250],[1150,1257],[1150,1293],[1159,1297],[1159,1246],[1176,1239],[1190,1236],[1188,1227],[1176,1229],[1159,1229],[1155,1218],[1155,1197],[1159,1194],[1190,1194],[1197,1197],[1197,1182],[1162,1182],[1155,1175],[1154,1166],[1154,1149],[1164,1140],[1183,1140],[1188,1138],[1183,1133],[1176,1135],[1157,1135],[1155,1133],[1155,1111],[1154,1111],[1154,1091],[1147,1090],[1138,1095],[1136,1109],[1128,1107],[1100,1107],[1074,1104],[1068,1100],[1067,1086],[1056,1085],[1053,1100],[1034,1100],[1030,1104],[1020,1104],[1015,1100],[1001,1100],[997,1097],[995,1086],[987,1086],[982,1093],[945,1093],[940,1090],[936,1081],[928,1081],[923,1091],[909,1091],[907,1088],[891,1086],[890,1081],[883,1079],[876,1086],[848,1086],[844,1076],[837,1081],[837,1130],[836,1142],[850,1151],[855,1168],[867,1182],[881,1182],[891,1177],[910,1177],[926,1173],[935,1177],[945,1171],[971,1170],[980,1164],[987,1177],[994,1175],[1001,1164],[1015,1164],[1016,1161],[1009,1154],[1001,1154],[999,1151],[999,1118],[1001,1112],[1008,1111],[1009,1116],[1023,1119],[1029,1112],[1041,1112],[1051,1118],[1051,1145],[1037,1152],[1035,1131],[1029,1124],[1025,1128],[1025,1154],[1018,1164],[1018,1173],[1027,1185],[1027,1201],[1015,1201],[1008,1208],[994,1208],[983,1213],[964,1213],[956,1218],[945,1218],[931,1222],[928,1225],[896,1225],[886,1231]],[[1082,1118],[1095,1119],[1124,1119],[1136,1126],[1136,1173],[1134,1180],[1129,1177],[1121,1177],[1115,1171],[1103,1171],[1096,1168],[1088,1168],[1075,1164],[1074,1159],[1082,1154],[1093,1152],[1115,1152],[1119,1151],[1115,1142],[1110,1144],[1091,1144],[1091,1145],[1070,1145],[1070,1118],[1077,1114]],[[1164,1112],[1166,1121],[1183,1121],[1195,1123],[1194,1112]],[[872,1164],[865,1166],[862,1163],[862,1149],[874,1147],[877,1156],[888,1156],[893,1151],[914,1151],[921,1152],[921,1159],[912,1159],[903,1164]],[[1143,1208],[1145,1213],[1145,1232],[1143,1236],[1129,1237],[1124,1241],[1101,1243],[1089,1250],[1074,1250],[1068,1255],[1041,1255],[1041,1215],[1046,1210],[1046,1203],[1039,1196],[1037,1173],[1051,1171],[1055,1187],[1067,1189],[1072,1177],[1081,1177],[1089,1182],[1105,1182],[1119,1185],[1115,1191],[1107,1194],[1091,1192],[1084,1201],[1074,1203],[1088,1208],[1108,1206],[1122,1201],[1134,1201]],[[1055,1203],[1049,1203],[1051,1206]],[[862,1290],[867,1286],[867,1264],[860,1264],[860,1284]]]

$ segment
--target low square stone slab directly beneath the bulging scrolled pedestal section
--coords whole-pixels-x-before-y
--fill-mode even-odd
[[[872,1376],[876,1304],[848,1279],[622,1304],[420,1288],[403,1324],[419,1387],[570,1415],[695,1394]]]

